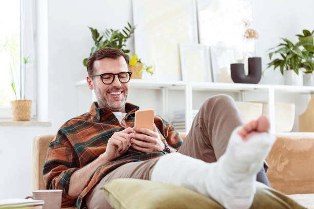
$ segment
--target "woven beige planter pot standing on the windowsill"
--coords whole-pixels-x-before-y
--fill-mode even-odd
[[[11,114],[14,121],[29,121],[31,117],[32,100],[11,101]]]

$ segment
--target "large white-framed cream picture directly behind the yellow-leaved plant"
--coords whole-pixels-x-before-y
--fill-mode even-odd
[[[153,66],[146,80],[182,80],[179,43],[198,44],[195,0],[132,0],[135,53]]]

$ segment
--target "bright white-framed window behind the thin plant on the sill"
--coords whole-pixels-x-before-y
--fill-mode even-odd
[[[36,117],[36,2],[0,1],[0,118],[11,117],[14,99],[32,100],[31,117]]]

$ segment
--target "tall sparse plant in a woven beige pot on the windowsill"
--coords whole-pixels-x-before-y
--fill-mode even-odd
[[[15,66],[16,66],[16,59],[15,57],[15,50],[16,47],[13,44],[10,44],[7,40],[5,45],[3,46],[4,50],[9,54],[10,60],[10,72],[11,72],[11,87],[15,95],[15,100],[11,101],[11,114],[12,114],[12,120],[14,121],[29,121],[31,118],[31,107],[32,107],[32,101],[25,99],[22,99],[22,83],[21,85],[17,85],[15,76]],[[30,62],[29,60],[30,56],[27,58],[23,58],[23,64],[24,64],[24,72],[26,71],[27,64]],[[25,90],[25,76],[24,76],[24,90]],[[18,91],[19,90],[19,94]]]

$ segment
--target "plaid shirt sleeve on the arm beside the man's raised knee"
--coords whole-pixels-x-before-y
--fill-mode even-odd
[[[175,131],[171,124],[160,116],[155,116],[154,123],[162,136],[163,142],[168,144],[170,147],[179,150],[183,143],[183,139],[180,134]]]

